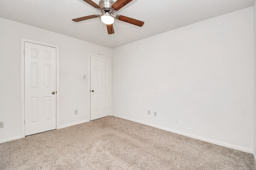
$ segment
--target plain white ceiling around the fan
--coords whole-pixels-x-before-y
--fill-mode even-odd
[[[72,21],[100,14],[83,0],[0,0],[0,17],[114,48],[253,4],[254,0],[133,0],[114,14],[145,24],[138,27],[115,21],[114,41],[99,18],[78,23]]]

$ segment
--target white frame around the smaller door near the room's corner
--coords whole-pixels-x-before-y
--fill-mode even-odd
[[[99,52],[100,53],[100,52]],[[109,59],[109,63],[110,63],[110,76],[109,76],[109,79],[110,79],[110,96],[109,96],[109,105],[110,105],[110,116],[112,116],[112,63],[111,63],[111,58],[110,57],[105,57],[105,56],[102,56],[102,55],[96,55],[96,54],[92,54],[92,53],[89,53],[88,55],[88,72],[89,72],[89,75],[88,75],[88,79],[89,79],[89,94],[88,95],[88,100],[89,100],[89,106],[90,106],[90,109],[89,109],[89,113],[88,113],[88,117],[89,117],[89,121],[91,121],[91,55],[94,55],[96,57],[102,57],[102,58],[106,58],[106,59]]]

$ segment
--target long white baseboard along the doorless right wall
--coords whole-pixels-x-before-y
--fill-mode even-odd
[[[220,145],[222,147],[227,147],[227,148],[231,148],[231,149],[241,150],[243,152],[253,153],[253,149],[248,149],[248,148],[239,147],[239,146],[236,146],[236,145],[231,145],[231,144],[228,144],[228,143],[214,141],[212,139],[207,139],[207,138],[204,138],[204,137],[199,137],[199,136],[196,136],[196,135],[191,135],[191,134],[184,133],[184,132],[181,132],[181,131],[176,131],[174,129],[169,129],[169,128],[158,126],[158,125],[154,125],[154,124],[151,124],[151,123],[146,123],[144,121],[138,121],[136,119],[130,119],[128,117],[123,117],[123,116],[120,116],[120,115],[114,115],[113,114],[113,116],[119,117],[119,118],[122,118],[122,119],[127,119],[127,120],[130,120],[130,121],[134,121],[134,122],[137,122],[137,123],[141,123],[141,124],[144,124],[144,125],[156,127],[158,129],[163,129],[165,131],[169,131],[169,132],[172,132],[172,133],[177,133],[179,135],[183,135],[183,136],[186,136],[186,137],[191,137],[191,138],[194,138],[194,139],[198,139],[200,141],[205,141],[205,142],[208,142],[208,143],[213,143],[213,144],[216,144],[216,145]],[[256,158],[255,154],[254,154],[254,158]]]

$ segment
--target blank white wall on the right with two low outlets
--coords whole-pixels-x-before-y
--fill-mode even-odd
[[[114,49],[113,115],[252,152],[253,27],[251,7]]]

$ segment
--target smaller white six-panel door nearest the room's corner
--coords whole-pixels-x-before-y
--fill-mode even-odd
[[[110,115],[110,59],[90,56],[90,120]]]

